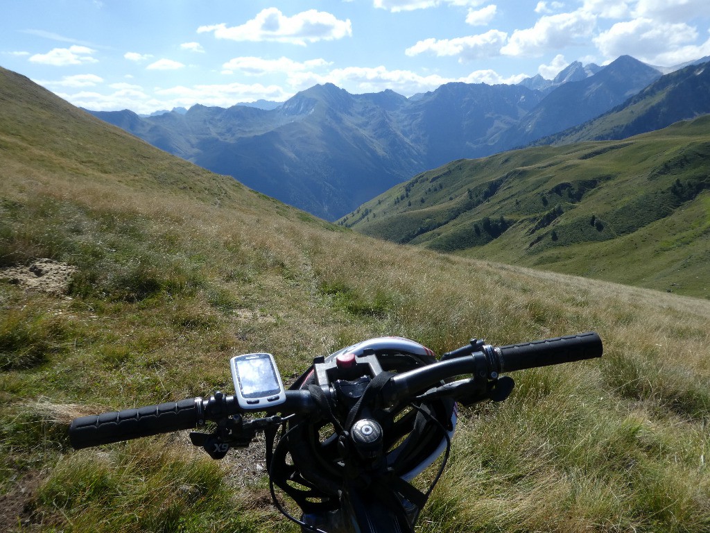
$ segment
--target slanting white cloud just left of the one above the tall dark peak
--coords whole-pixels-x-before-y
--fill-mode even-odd
[[[559,50],[589,38],[596,26],[596,17],[586,11],[542,16],[535,26],[515,30],[502,49],[504,55],[540,55],[545,50]]]

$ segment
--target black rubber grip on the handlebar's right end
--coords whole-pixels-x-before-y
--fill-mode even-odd
[[[533,340],[532,343],[501,346],[497,350],[500,350],[503,372],[593,359],[601,357],[603,352],[601,338],[593,331],[580,335]]]

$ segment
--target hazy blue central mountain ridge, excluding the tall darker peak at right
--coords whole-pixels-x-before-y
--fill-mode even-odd
[[[488,153],[486,143],[501,124],[513,124],[538,101],[535,92],[508,85],[449,84],[409,102],[393,91],[351,95],[326,84],[271,111],[196,105],[184,115],[92,114],[171,154],[335,220],[461,151]]]

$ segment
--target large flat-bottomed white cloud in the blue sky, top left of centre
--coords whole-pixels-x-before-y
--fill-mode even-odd
[[[309,9],[294,16],[285,16],[279,9],[263,9],[251,21],[241,26],[226,24],[200,26],[197,33],[214,33],[218,39],[231,41],[275,41],[305,45],[317,41],[333,41],[352,36],[350,19],[341,21],[324,11]]]

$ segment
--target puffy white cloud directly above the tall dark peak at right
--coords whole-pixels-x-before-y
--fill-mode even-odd
[[[618,22],[594,38],[607,58],[632,55],[655,65],[673,65],[706,55],[708,43],[695,45],[698,33],[686,23],[661,23],[651,18]],[[671,58],[682,58],[667,63]]]

